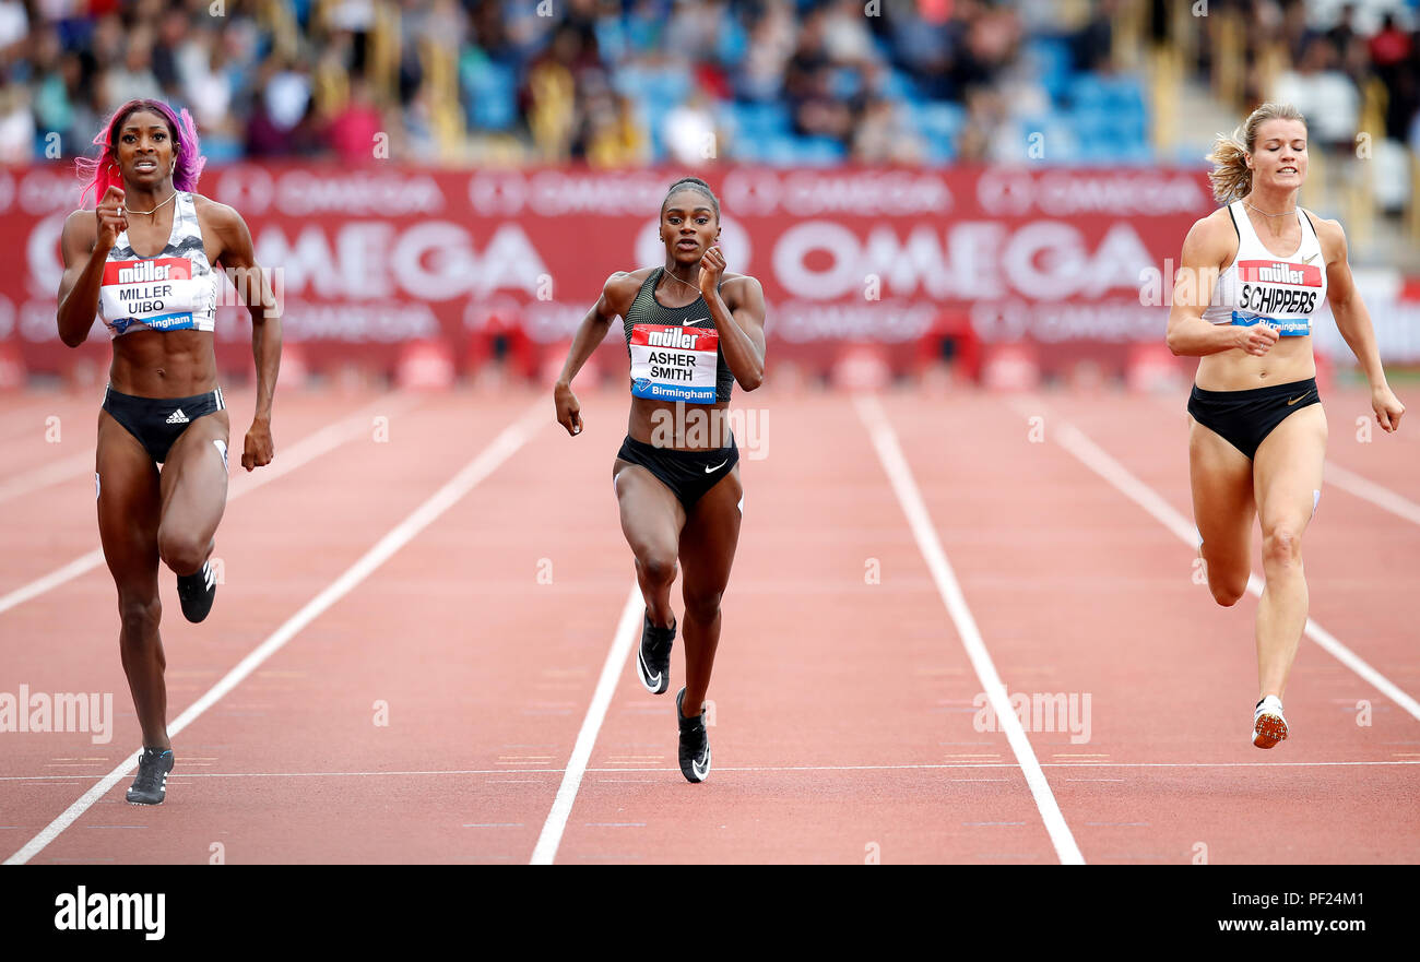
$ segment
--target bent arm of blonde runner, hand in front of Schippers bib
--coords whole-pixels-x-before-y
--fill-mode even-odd
[[[1262,356],[1277,343],[1277,331],[1265,324],[1244,328],[1203,319],[1214,282],[1233,257],[1233,238],[1231,224],[1214,216],[1196,221],[1183,238],[1166,338],[1174,355],[1203,358],[1238,348]]]

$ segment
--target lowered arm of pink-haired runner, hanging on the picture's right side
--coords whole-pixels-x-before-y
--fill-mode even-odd
[[[275,379],[281,369],[281,309],[257,264],[256,247],[247,221],[227,204],[207,200],[203,204],[207,223],[217,236],[217,260],[223,272],[237,288],[237,294],[251,314],[251,356],[257,363],[257,409],[251,429],[241,446],[241,467],[247,471],[271,463],[275,446],[271,441],[271,402]]]

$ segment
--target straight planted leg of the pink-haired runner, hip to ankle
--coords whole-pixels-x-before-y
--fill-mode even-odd
[[[118,587],[118,650],[143,745],[169,748],[163,643],[158,636],[158,468],[114,417],[98,414],[98,533]]]

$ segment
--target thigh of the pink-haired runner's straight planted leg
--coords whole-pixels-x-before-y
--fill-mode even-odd
[[[104,560],[121,593],[158,597],[158,467],[138,438],[101,410],[98,447],[98,533]]]

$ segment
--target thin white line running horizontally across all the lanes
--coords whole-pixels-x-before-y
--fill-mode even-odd
[[[1041,762],[1041,768],[1333,768],[1348,765],[1420,765],[1420,759],[1387,759],[1379,762]],[[1015,762],[946,762],[923,765],[741,765],[738,768],[716,766],[716,772],[892,772],[910,769],[956,769],[956,768],[1020,768]],[[518,775],[562,775],[559,768],[520,768]],[[169,779],[169,785],[186,779],[335,779],[335,778],[408,778],[408,776],[466,776],[466,775],[511,775],[514,769],[433,769],[425,772],[183,772]],[[586,768],[585,772],[602,775],[632,775],[636,772],[680,772],[679,768]],[[84,782],[78,775],[0,775],[0,782]],[[601,779],[602,782],[642,782],[655,779]],[[954,782],[1005,782],[1007,779],[953,779]],[[1119,782],[1122,779],[1065,779],[1066,782]],[[493,785],[544,785],[542,779],[500,779]],[[0,824],[0,829],[21,826]]]

